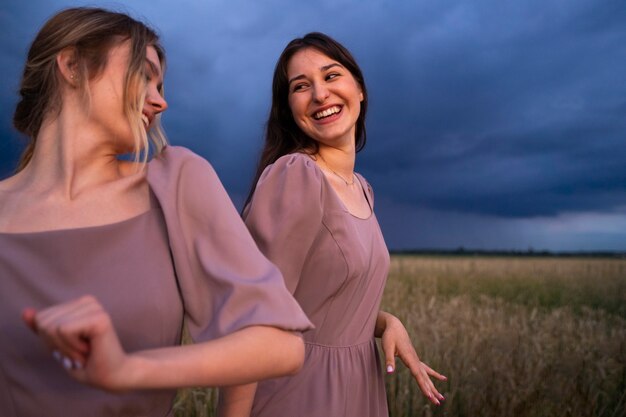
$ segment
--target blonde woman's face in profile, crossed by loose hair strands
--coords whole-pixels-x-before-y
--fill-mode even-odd
[[[89,82],[90,120],[103,131],[103,134],[112,138],[119,152],[132,151],[136,141],[131,128],[133,119],[141,120],[143,128],[147,131],[154,124],[156,116],[167,109],[167,102],[161,95],[163,74],[161,63],[156,49],[148,46],[146,49],[145,68],[141,76],[145,83],[136,87],[145,88],[143,108],[134,111],[137,114],[128,114],[125,103],[128,100],[125,95],[125,78],[129,68],[130,43],[122,42],[111,48],[108,54],[107,64],[102,73]],[[141,94],[140,94],[141,95]],[[131,95],[132,96],[132,95]],[[131,108],[132,103],[131,103]],[[136,107],[135,107],[136,108]],[[120,123],[127,120],[127,123]]]

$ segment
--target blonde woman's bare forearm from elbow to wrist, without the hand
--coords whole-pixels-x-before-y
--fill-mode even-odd
[[[300,336],[253,326],[205,343],[130,354],[119,389],[245,384],[295,373],[303,358]]]

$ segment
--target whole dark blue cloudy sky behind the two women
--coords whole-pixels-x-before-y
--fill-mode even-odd
[[[236,204],[250,186],[286,43],[323,31],[365,74],[374,186],[392,249],[626,251],[623,0],[5,0],[0,176],[38,28],[71,5],[147,21],[168,52],[163,123],[213,163]]]

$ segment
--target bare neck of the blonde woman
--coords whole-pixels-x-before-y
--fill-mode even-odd
[[[110,141],[84,119],[63,111],[44,120],[29,164],[18,175],[39,192],[75,199],[82,191],[121,177]]]

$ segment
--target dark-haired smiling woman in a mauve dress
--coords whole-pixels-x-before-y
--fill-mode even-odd
[[[375,337],[387,372],[397,355],[434,404],[443,400],[430,377],[445,377],[419,360],[402,323],[379,310],[389,254],[372,188],[354,172],[366,108],[363,75],[342,45],[321,33],[287,45],[244,219],[315,329],[304,334],[297,375],[261,382],[256,393],[253,385],[222,390],[222,416],[250,408],[254,417],[387,416]]]

